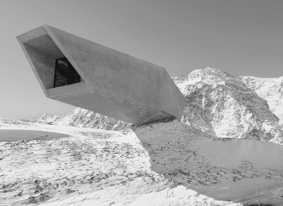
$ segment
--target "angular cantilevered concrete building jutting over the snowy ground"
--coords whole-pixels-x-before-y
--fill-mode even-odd
[[[186,99],[163,67],[49,25],[17,39],[48,98],[136,125],[169,117],[181,120]],[[80,80],[55,87],[61,75],[55,73],[55,64],[62,57]]]

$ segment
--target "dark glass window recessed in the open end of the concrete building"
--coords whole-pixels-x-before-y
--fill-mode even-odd
[[[81,82],[81,77],[66,57],[56,59],[53,87]]]

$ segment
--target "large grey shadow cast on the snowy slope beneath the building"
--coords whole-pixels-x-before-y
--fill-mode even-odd
[[[282,166],[274,162],[274,151],[278,159],[283,155],[281,145],[209,136],[174,118],[133,126],[131,131],[147,150],[152,171],[206,196],[204,200],[245,201],[283,183]]]

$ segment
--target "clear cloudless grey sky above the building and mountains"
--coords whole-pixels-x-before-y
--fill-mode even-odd
[[[283,76],[283,1],[0,0],[0,117],[66,115],[44,96],[16,36],[44,24],[163,66]],[[154,88],[153,88],[154,89]]]

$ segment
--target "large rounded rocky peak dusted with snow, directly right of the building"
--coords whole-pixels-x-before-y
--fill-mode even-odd
[[[206,68],[172,79],[187,99],[182,118],[186,124],[221,138],[283,144],[278,118],[242,78]]]

